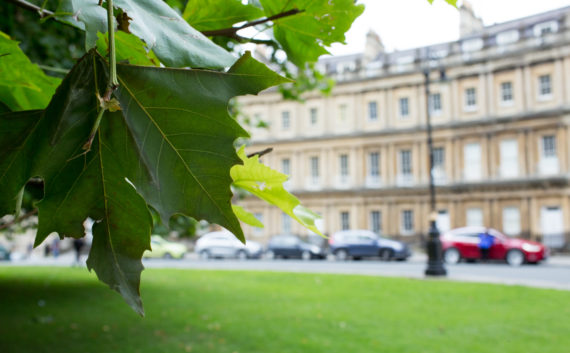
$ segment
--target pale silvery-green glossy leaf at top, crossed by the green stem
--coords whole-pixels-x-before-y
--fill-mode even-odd
[[[63,0],[61,11],[74,17],[59,17],[87,32],[86,46],[92,48],[97,32],[107,32],[107,13],[99,0]],[[132,20],[129,30],[142,39],[162,63],[169,67],[226,68],[235,57],[192,28],[162,0],[114,0]],[[83,25],[77,22],[83,23]]]

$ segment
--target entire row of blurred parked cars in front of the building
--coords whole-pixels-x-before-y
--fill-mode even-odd
[[[492,238],[488,260],[506,261],[512,266],[523,263],[538,263],[548,258],[549,250],[544,245],[518,238],[508,237],[501,232],[485,227],[463,227],[441,235],[445,262],[477,261],[482,257],[480,234]],[[144,257],[182,258],[186,247],[171,243],[159,236],[152,236],[153,251]],[[267,259],[297,258],[303,260],[324,259],[333,256],[337,260],[375,257],[381,260],[408,259],[412,251],[403,242],[378,236],[369,230],[347,230],[332,234],[328,241],[320,236],[301,238],[296,235],[278,235],[270,239],[267,247],[255,241],[242,244],[226,230],[211,232],[198,239],[195,252],[202,259],[237,258]]]

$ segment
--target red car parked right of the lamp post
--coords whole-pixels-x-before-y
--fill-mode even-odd
[[[489,250],[490,260],[506,260],[511,266],[520,266],[524,262],[538,263],[548,257],[548,248],[540,243],[509,238],[492,228],[464,227],[450,230],[441,236],[445,262],[455,264],[461,259],[481,259],[479,234],[485,230],[493,237],[493,245]]]

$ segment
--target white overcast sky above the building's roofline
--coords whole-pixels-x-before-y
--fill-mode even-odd
[[[333,55],[361,53],[372,29],[388,51],[416,48],[459,39],[459,11],[444,0],[358,0],[364,13],[346,35],[346,45],[334,45]],[[461,1],[459,1],[461,3]],[[471,0],[477,16],[492,25],[570,6],[570,0]]]

